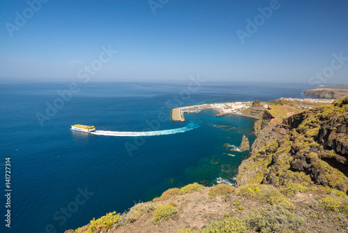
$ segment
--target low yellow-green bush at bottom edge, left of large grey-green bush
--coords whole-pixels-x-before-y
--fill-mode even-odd
[[[245,232],[244,224],[239,218],[225,218],[222,221],[214,221],[212,224],[205,227],[202,233],[239,233]]]

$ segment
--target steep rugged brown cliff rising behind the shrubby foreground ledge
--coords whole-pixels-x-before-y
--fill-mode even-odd
[[[347,119],[345,98],[263,128],[251,147],[251,157],[239,166],[237,186],[315,183],[347,192]]]

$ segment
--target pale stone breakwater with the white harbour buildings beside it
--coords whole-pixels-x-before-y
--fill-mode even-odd
[[[176,107],[171,112],[171,119],[173,121],[185,121],[185,112],[200,112],[202,110],[212,109],[219,112],[216,116],[222,116],[226,114],[242,114],[241,110],[246,110],[251,107],[251,102],[231,102],[231,103],[213,103],[204,105],[193,105],[187,107]]]

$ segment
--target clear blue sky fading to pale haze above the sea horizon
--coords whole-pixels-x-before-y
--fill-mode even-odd
[[[18,0],[0,14],[2,79],[77,80],[93,65],[93,81],[348,84],[347,0]]]

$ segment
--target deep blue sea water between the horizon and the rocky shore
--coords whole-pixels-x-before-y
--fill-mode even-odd
[[[255,140],[255,119],[215,117],[214,110],[170,120],[171,108],[230,101],[303,98],[303,84],[205,82],[189,91],[188,82],[89,83],[67,100],[57,91],[69,83],[0,83],[0,171],[11,160],[10,232],[64,232],[110,211],[123,212],[173,187],[221,178],[233,183],[248,152],[226,150],[242,135]],[[56,102],[54,102],[56,101]],[[48,105],[61,104],[56,112]],[[49,119],[48,119],[49,118]],[[164,119],[166,118],[166,119]],[[113,137],[70,130],[72,124],[97,130],[168,135]],[[190,130],[177,130],[189,128]],[[234,156],[228,156],[227,153]],[[0,197],[1,232],[5,227],[5,179]]]

